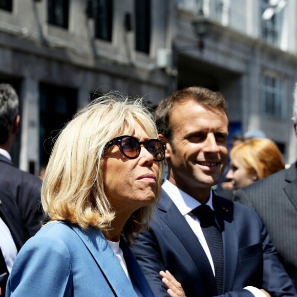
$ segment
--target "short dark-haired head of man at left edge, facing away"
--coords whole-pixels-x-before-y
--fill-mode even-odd
[[[0,83],[0,147],[11,153],[19,126],[19,101],[13,87]]]

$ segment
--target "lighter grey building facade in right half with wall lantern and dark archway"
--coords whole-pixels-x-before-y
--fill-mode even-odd
[[[242,133],[263,130],[267,137],[284,147],[286,162],[295,161],[296,138],[291,117],[292,92],[297,81],[296,2],[288,1],[282,11],[285,18],[279,45],[272,45],[261,36],[260,0],[179,0],[177,3],[175,43],[181,61],[180,84],[183,87],[187,82],[188,85],[202,84],[221,91],[229,105],[231,123],[239,122]],[[215,11],[220,3],[228,6],[225,17]],[[192,26],[199,14],[199,5],[211,24],[203,50],[197,47]],[[183,50],[191,45],[192,50]],[[263,114],[264,74],[282,81],[281,117]]]

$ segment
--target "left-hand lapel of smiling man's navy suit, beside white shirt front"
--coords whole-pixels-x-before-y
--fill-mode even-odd
[[[205,283],[205,290],[207,291],[208,289],[213,289],[208,292],[209,296],[213,296],[216,294],[215,278],[213,270],[211,269],[199,240],[172,200],[164,192],[162,195],[164,198],[162,204],[165,206],[163,203],[165,202],[167,205],[164,208],[166,209],[166,212],[161,219],[168,225],[169,228],[171,228],[174,234],[182,242],[184,248],[188,251],[200,271],[200,277],[203,279],[203,283]]]

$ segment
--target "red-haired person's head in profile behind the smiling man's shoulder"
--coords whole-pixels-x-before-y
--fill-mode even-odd
[[[248,138],[232,147],[231,166],[226,178],[234,190],[261,180],[285,167],[277,144],[268,138]]]

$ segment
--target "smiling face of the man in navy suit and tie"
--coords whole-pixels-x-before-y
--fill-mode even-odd
[[[190,99],[176,105],[171,125],[172,143],[166,145],[169,181],[194,198],[197,190],[209,195],[227,162],[226,114]]]

